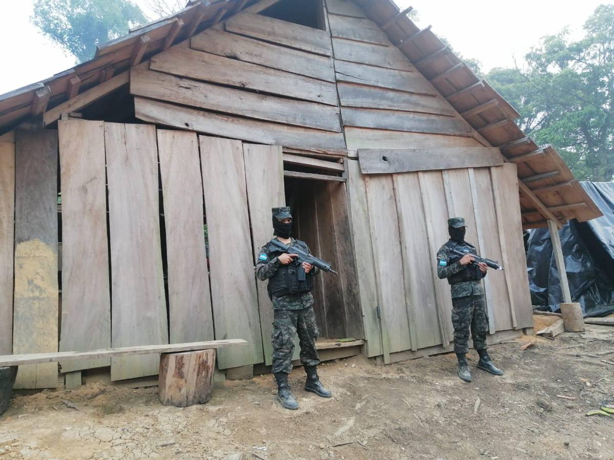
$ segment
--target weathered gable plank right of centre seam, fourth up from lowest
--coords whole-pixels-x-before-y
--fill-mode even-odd
[[[437,90],[433,85],[415,70],[407,72],[335,59],[335,72],[337,81],[437,96]]]

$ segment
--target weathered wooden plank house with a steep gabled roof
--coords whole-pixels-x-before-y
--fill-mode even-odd
[[[451,350],[433,263],[451,216],[505,266],[485,281],[492,340],[531,328],[523,228],[599,209],[407,12],[196,0],[0,96],[0,352],[236,337],[249,346],[220,350],[220,369],[270,364],[253,266],[284,203],[340,273],[316,283],[324,358]],[[122,380],[156,363],[60,364]],[[20,368],[17,386],[56,384],[55,364]]]

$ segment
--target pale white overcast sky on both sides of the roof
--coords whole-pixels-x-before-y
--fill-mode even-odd
[[[75,61],[43,37],[29,22],[33,0],[0,0],[0,94],[69,69]],[[492,67],[521,65],[524,54],[540,37],[569,26],[579,35],[594,9],[607,1],[583,0],[396,0],[418,11],[421,27],[432,25],[466,58]],[[136,3],[144,7],[144,0]]]

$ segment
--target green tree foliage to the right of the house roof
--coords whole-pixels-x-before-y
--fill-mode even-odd
[[[486,80],[521,114],[539,145],[553,144],[579,179],[614,178],[614,5],[601,5],[573,41],[543,37],[526,69],[492,69]]]

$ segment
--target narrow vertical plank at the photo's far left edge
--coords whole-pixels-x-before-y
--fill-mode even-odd
[[[12,139],[12,142],[9,140]],[[0,136],[0,353],[13,343],[13,260],[15,236],[15,138]]]

